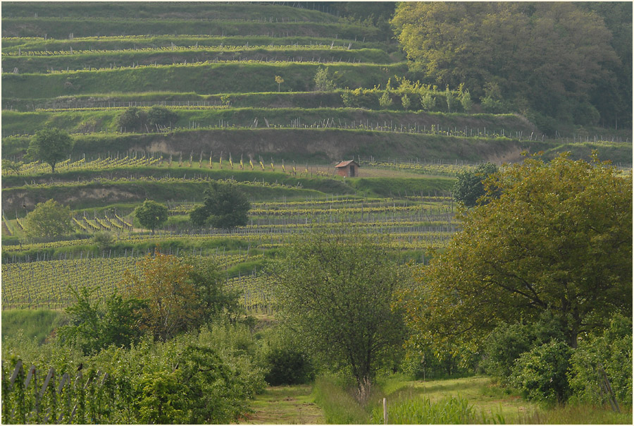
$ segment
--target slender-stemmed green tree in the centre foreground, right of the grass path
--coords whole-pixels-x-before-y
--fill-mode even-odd
[[[363,385],[404,339],[391,309],[397,265],[381,242],[344,229],[299,236],[287,253],[274,270],[280,318],[309,352]]]

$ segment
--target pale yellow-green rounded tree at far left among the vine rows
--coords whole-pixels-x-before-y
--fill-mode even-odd
[[[73,220],[69,207],[63,207],[55,200],[39,202],[27,214],[24,224],[25,236],[30,239],[58,238],[73,231]]]

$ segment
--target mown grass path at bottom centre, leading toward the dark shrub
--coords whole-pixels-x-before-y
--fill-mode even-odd
[[[241,425],[321,425],[324,423],[321,409],[313,403],[313,387],[268,387],[251,403],[254,413],[242,419]]]

